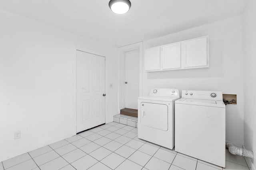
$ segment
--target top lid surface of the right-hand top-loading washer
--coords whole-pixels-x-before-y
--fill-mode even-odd
[[[211,106],[211,107],[223,107],[226,108],[226,105],[223,101],[219,100],[203,100],[203,99],[187,99],[181,98],[175,101],[176,104],[190,104],[198,106]]]

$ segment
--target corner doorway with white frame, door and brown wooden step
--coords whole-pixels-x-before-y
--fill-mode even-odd
[[[142,42],[120,47],[120,114],[138,117],[138,97],[142,96]]]

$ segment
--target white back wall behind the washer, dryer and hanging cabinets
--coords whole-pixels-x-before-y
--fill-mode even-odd
[[[194,27],[143,42],[144,49],[209,35],[209,68],[144,72],[142,95],[152,88],[218,90],[237,94],[237,105],[226,106],[226,141],[244,144],[242,16]],[[143,66],[144,68],[144,66]]]

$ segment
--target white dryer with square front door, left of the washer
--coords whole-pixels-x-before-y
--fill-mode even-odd
[[[180,98],[177,89],[152,89],[138,98],[138,138],[173,149],[174,106]]]

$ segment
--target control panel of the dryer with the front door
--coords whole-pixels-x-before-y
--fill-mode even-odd
[[[180,97],[180,93],[178,89],[173,89],[173,88],[153,88],[150,91],[149,96],[176,96]]]

